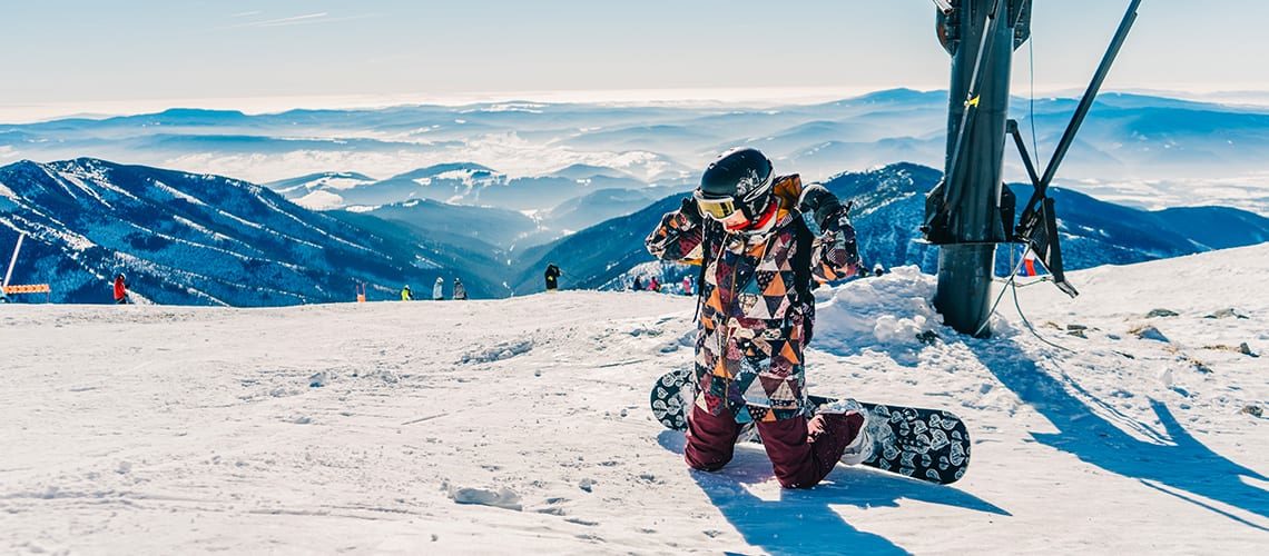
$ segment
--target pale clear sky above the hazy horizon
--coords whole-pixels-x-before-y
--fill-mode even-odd
[[[0,8],[0,117],[945,89],[928,0],[41,0]],[[1036,86],[1082,89],[1128,0],[1036,0]],[[1216,6],[1220,8],[1216,8]],[[1269,3],[1145,0],[1110,90],[1269,91]],[[1029,87],[1028,51],[1015,87]],[[1018,91],[1019,89],[1015,89]]]

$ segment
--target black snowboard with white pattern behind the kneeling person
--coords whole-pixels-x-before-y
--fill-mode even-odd
[[[652,415],[666,428],[688,429],[687,409],[695,398],[692,382],[692,371],[676,370],[652,386]],[[820,407],[835,400],[812,395],[810,401]],[[859,405],[869,413],[868,432],[874,443],[872,456],[860,465],[940,485],[964,476],[970,466],[970,431],[961,418],[939,409],[865,401]],[[739,441],[760,443],[753,423],[746,422],[747,413],[741,419],[744,432]]]

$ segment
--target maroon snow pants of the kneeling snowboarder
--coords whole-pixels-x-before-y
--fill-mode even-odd
[[[692,469],[717,471],[731,461],[740,424],[731,412],[721,415],[693,404],[683,458]],[[775,479],[786,489],[810,489],[829,476],[841,452],[859,434],[863,415],[820,414],[758,423]]]

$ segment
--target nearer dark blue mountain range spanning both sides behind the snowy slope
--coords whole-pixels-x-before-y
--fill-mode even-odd
[[[921,242],[917,229],[924,196],[939,177],[925,166],[896,163],[841,174],[825,186],[854,201],[865,265],[915,263],[933,272],[937,248]],[[1029,195],[1011,187],[1019,199]],[[1269,219],[1239,209],[1148,212],[1060,187],[1052,196],[1070,270],[1269,241]],[[551,232],[514,210],[416,199],[312,212],[228,177],[94,158],[23,161],[0,167],[0,246],[27,233],[14,281],[49,282],[58,301],[108,301],[117,272],[129,276],[141,299],[164,304],[339,301],[352,299],[358,282],[368,284],[374,299],[392,299],[401,284],[421,290],[442,277],[448,287],[454,276],[473,298],[496,298],[541,291],[547,262],[563,269],[567,289],[622,287],[632,269],[678,281],[693,271],[646,266],[652,258],[643,238],[680,199],[598,190],[556,206],[553,218],[563,222],[609,200],[624,203],[622,210],[643,206],[544,239]],[[997,274],[1010,270],[1006,250],[997,255]]]

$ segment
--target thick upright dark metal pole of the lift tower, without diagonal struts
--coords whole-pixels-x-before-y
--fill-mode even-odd
[[[1010,73],[1029,37],[1030,0],[935,5],[952,80],[944,181],[926,199],[924,225],[939,246],[934,305],[954,329],[990,334],[996,244],[1009,241],[1000,203]]]

